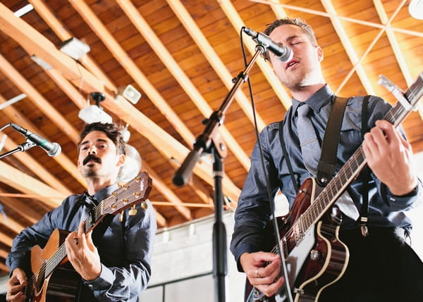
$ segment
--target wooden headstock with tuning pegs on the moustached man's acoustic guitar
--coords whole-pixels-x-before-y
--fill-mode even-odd
[[[102,214],[115,215],[139,201],[144,201],[148,198],[151,190],[152,179],[147,172],[141,172],[102,201],[99,205],[102,206]]]

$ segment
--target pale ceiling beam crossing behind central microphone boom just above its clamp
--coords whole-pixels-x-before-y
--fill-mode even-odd
[[[152,30],[152,27],[150,27],[147,21],[142,18],[142,15],[137,11],[137,8],[128,0],[118,0],[117,3],[119,6],[121,6],[126,15],[128,15],[128,18],[131,20],[140,34],[142,34],[142,37],[144,37],[149,46],[152,47],[157,56],[159,56],[160,60],[164,63],[164,65],[166,65],[166,68],[180,84],[180,87],[182,87],[185,90],[185,93],[190,96],[191,101],[195,103],[195,106],[197,106],[202,115],[204,115],[206,118],[209,118],[209,116],[213,113],[212,108],[209,106],[202,94],[200,94],[197,87],[192,84],[183,69],[180,68],[178,62],[175,61],[172,54],[166,49],[166,46],[164,46],[159,37],[157,37],[157,34],[155,34],[154,30]],[[202,36],[202,34],[200,35]],[[242,106],[241,108],[244,109]],[[238,144],[238,142],[233,138],[231,132],[229,132],[224,125],[219,127],[219,131],[221,132],[224,141],[228,145],[228,148],[232,150],[233,155],[238,158],[238,161],[240,161],[245,170],[249,170],[250,157],[247,156],[247,153],[243,151],[243,148],[240,146],[240,144]],[[191,141],[191,144],[193,143],[194,141]]]

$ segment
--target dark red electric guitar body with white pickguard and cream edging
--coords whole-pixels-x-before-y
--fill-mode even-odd
[[[295,226],[311,205],[316,192],[316,182],[308,178],[300,187],[293,208],[279,224],[282,248],[285,250],[288,279],[295,302],[318,301],[321,291],[338,281],[345,272],[348,248],[338,238],[337,225],[319,221],[307,232]],[[277,251],[277,246],[272,251]],[[285,301],[283,291],[266,297],[247,281],[247,302]]]

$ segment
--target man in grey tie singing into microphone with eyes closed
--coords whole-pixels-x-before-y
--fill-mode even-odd
[[[312,171],[317,170],[319,161],[317,159],[312,169],[306,168],[308,158],[303,157],[299,138],[299,108],[305,104],[310,108],[307,118],[312,126],[308,131],[317,132],[316,137],[321,144],[336,96],[322,75],[320,63],[323,51],[307,23],[299,18],[276,20],[264,33],[293,51],[293,59],[286,63],[279,61],[274,54],[266,53],[275,74],[290,90],[293,105],[286,112],[282,124],[275,122],[268,125],[260,134],[265,172],[258,144],[252,152],[251,168],[235,212],[231,251],[238,269],[245,272],[250,285],[265,296],[273,296],[283,287],[284,279],[281,277],[280,257],[269,252],[272,246],[266,249],[269,236],[265,229],[273,213],[265,175],[269,177],[272,197],[280,189],[292,210],[297,188],[307,177],[315,176]],[[362,116],[363,106],[367,106],[367,115]],[[346,199],[360,211],[360,215],[345,211],[341,222],[339,239],[348,247],[349,263],[345,272],[342,271],[343,275],[340,270],[340,279],[319,292],[319,301],[423,301],[422,260],[405,243],[411,229],[405,211],[422,201],[422,181],[412,169],[412,150],[403,133],[382,120],[390,108],[388,103],[376,96],[353,96],[346,103],[336,153],[336,171],[362,144],[372,172],[369,172],[371,179],[359,177],[348,188],[349,197]],[[364,134],[364,140],[362,122],[370,130]],[[286,156],[282,144],[286,146]],[[318,149],[316,153],[320,153]],[[317,154],[316,157],[319,156]],[[362,206],[365,199],[368,206]],[[295,233],[295,238],[297,235],[301,237],[300,232]],[[307,256],[309,250],[302,252]],[[329,249],[326,251],[330,252]],[[318,260],[325,256],[324,253],[312,256]],[[348,255],[345,257],[348,260]],[[290,268],[293,269],[293,266]],[[341,268],[345,269],[345,265]],[[315,277],[319,279],[320,276]],[[291,286],[294,281],[290,280]],[[311,286],[314,285],[314,280],[308,281]],[[301,290],[295,292],[301,294]],[[314,298],[307,301],[314,301]]]

